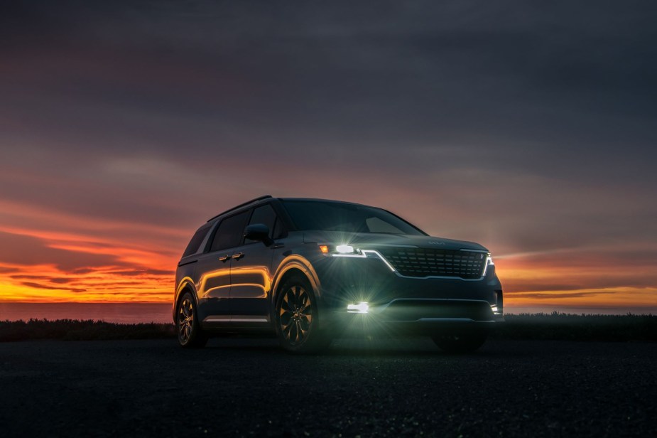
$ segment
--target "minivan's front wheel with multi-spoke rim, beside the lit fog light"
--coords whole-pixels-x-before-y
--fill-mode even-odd
[[[275,321],[281,346],[299,354],[328,348],[331,338],[320,331],[317,299],[308,279],[295,274],[278,291]]]

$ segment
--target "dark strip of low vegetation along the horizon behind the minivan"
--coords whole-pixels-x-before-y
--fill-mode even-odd
[[[173,324],[114,324],[77,319],[0,321],[0,342],[56,339],[102,341],[109,339],[174,338]],[[561,341],[657,341],[657,316],[652,315],[506,315],[492,338]]]

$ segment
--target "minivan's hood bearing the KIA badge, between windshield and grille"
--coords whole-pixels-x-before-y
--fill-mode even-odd
[[[344,233],[342,231],[305,231],[304,243],[332,243],[356,245],[362,248],[381,246],[413,246],[433,250],[479,250],[488,251],[482,245],[465,240],[445,239],[424,235],[386,234],[386,233]]]

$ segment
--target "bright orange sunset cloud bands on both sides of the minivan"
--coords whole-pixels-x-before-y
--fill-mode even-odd
[[[0,301],[166,302],[192,230],[0,201]],[[36,220],[47,217],[48,220]],[[126,237],[127,236],[127,237]],[[657,309],[651,245],[494,257],[507,309]],[[495,256],[495,254],[494,254]]]

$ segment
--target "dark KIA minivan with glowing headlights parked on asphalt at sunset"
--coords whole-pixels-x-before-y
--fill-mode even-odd
[[[276,333],[308,353],[347,333],[416,333],[473,351],[504,321],[487,250],[431,237],[357,203],[262,196],[211,218],[175,274],[183,347],[212,333]]]

